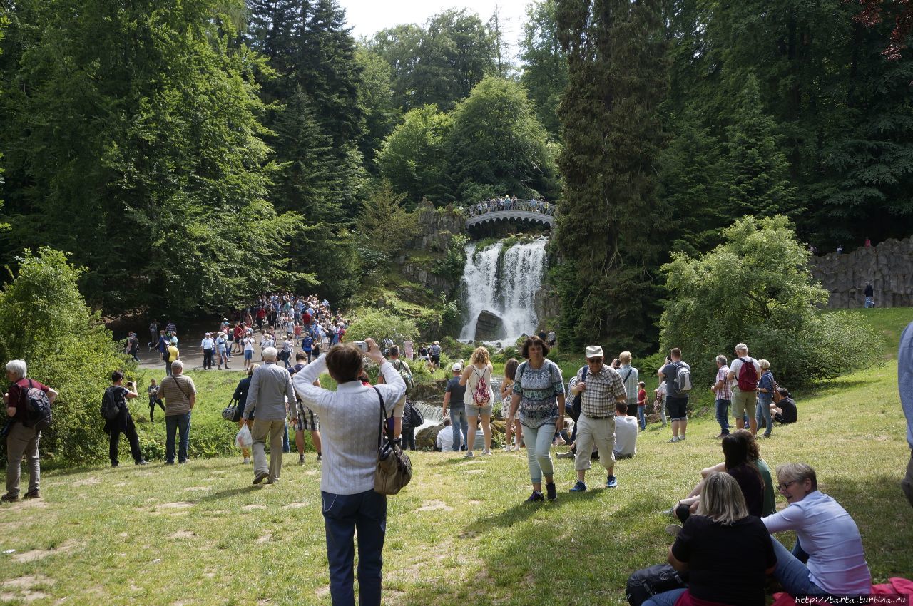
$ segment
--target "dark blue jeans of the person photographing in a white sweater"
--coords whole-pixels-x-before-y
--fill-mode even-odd
[[[333,606],[354,606],[353,538],[358,530],[358,603],[381,603],[383,537],[387,527],[387,497],[368,490],[357,495],[320,491],[323,525],[327,532],[330,595]]]

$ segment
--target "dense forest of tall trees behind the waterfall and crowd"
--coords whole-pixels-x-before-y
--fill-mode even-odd
[[[539,196],[562,336],[645,350],[659,267],[746,214],[823,251],[910,235],[904,9],[540,0],[510,57],[458,9],[356,40],[334,0],[11,0],[0,259],[68,252],[109,316],[345,301],[395,252],[378,207]]]

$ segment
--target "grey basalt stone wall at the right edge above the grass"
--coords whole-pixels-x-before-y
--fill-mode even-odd
[[[866,280],[879,308],[913,307],[913,238],[887,239],[851,253],[812,256],[812,275],[831,294],[829,308],[861,308]]]

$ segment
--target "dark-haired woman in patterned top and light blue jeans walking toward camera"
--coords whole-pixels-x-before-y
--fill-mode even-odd
[[[551,438],[557,427],[564,426],[564,379],[558,365],[545,358],[548,353],[549,346],[539,337],[526,340],[522,354],[528,360],[517,368],[510,398],[510,416],[523,425],[530,465],[532,494],[527,503],[545,500],[543,475],[549,500],[558,497],[552,478]]]

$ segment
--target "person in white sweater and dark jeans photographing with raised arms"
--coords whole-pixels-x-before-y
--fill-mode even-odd
[[[359,603],[381,603],[383,538],[387,497],[374,492],[374,471],[381,432],[381,402],[389,418],[405,394],[405,381],[383,358],[372,339],[367,357],[381,367],[385,384],[359,380],[364,355],[352,343],[335,345],[292,378],[301,402],[320,415],[323,471],[320,496],[327,533],[330,595],[333,604],[354,604],[353,535],[358,530]],[[335,392],[312,385],[324,370],[337,382]],[[392,419],[390,420],[392,423]]]

